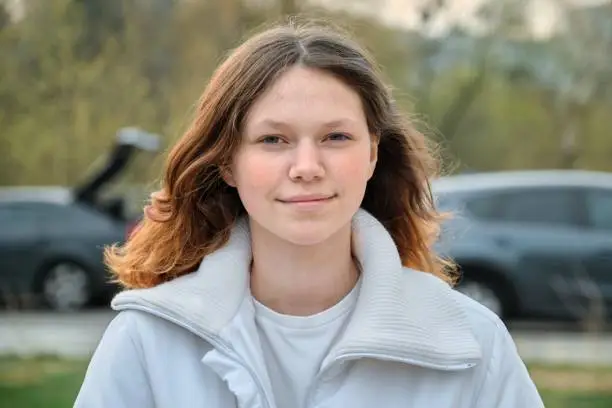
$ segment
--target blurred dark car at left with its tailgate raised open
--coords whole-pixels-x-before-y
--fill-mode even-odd
[[[114,293],[103,247],[123,242],[134,221],[122,198],[103,199],[101,191],[135,153],[156,151],[156,140],[122,129],[105,166],[74,189],[0,189],[0,301],[70,310]]]

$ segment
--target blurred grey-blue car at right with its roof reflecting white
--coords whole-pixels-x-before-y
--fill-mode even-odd
[[[433,183],[458,290],[503,318],[612,316],[612,174],[508,171]]]

